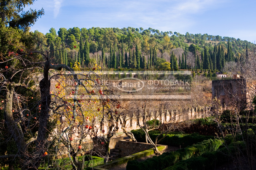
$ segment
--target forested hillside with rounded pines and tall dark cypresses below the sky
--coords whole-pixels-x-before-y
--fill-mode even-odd
[[[46,35],[35,31],[42,48],[55,62],[102,68],[218,69],[240,61],[255,44],[231,37],[179,34],[152,28],[54,28]]]

